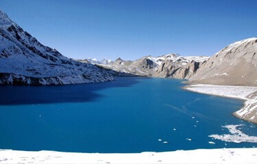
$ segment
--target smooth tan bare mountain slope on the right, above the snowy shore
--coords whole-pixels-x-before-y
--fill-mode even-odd
[[[215,53],[190,77],[193,83],[257,85],[257,38],[241,40]]]

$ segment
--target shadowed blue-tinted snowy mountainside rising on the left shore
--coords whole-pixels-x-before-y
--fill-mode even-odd
[[[60,85],[114,80],[108,70],[42,45],[0,10],[0,84]]]

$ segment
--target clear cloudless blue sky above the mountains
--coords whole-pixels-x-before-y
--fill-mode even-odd
[[[0,0],[42,44],[75,59],[213,55],[257,37],[256,0]]]

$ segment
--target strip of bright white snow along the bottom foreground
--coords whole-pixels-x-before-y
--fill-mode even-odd
[[[0,150],[0,163],[256,163],[257,148],[178,150],[134,154]]]

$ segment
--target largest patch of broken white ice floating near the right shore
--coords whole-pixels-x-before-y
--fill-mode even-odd
[[[238,127],[244,126],[243,124],[238,125],[226,125],[222,126],[223,128],[228,128],[230,131],[230,134],[226,135],[209,135],[209,137],[212,137],[213,139],[220,139],[221,141],[228,141],[228,142],[234,142],[234,143],[241,143],[241,142],[252,142],[257,143],[257,137],[256,136],[249,136],[242,131]]]

